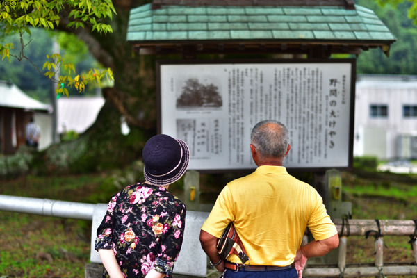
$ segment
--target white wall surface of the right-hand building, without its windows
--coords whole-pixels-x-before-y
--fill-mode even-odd
[[[397,138],[402,134],[417,133],[417,117],[402,117],[404,104],[417,105],[417,79],[416,81],[402,81],[397,76],[379,76],[377,79],[360,79],[356,84],[355,122],[354,122],[354,155],[363,155],[366,152],[368,138],[364,132],[373,127],[386,134],[386,149],[378,151],[378,156],[386,152],[386,158],[396,158]],[[388,117],[370,117],[370,104],[386,104]],[[361,130],[364,129],[364,130]],[[382,132],[368,133],[369,140],[381,141]],[[365,132],[366,133],[366,132]],[[357,138],[359,136],[359,139]],[[361,140],[366,140],[359,142]],[[370,141],[371,142],[371,141]],[[381,145],[382,147],[382,145]],[[374,149],[375,151],[375,149]],[[376,152],[376,151],[375,151]],[[380,157],[381,159],[384,159]]]

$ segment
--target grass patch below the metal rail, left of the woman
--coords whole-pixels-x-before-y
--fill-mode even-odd
[[[76,220],[0,214],[0,275],[83,277],[90,240]]]

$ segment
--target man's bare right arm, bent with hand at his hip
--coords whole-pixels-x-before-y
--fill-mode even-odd
[[[326,238],[325,240],[314,240],[300,247],[295,255],[295,269],[298,271],[298,277],[302,277],[302,270],[306,265],[307,259],[313,256],[323,256],[330,250],[338,247],[338,234]]]

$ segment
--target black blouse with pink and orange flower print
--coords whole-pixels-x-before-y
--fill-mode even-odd
[[[137,183],[108,203],[95,240],[95,250],[113,249],[128,278],[149,270],[172,277],[183,240],[186,206],[160,186]],[[103,277],[109,275],[104,269]]]

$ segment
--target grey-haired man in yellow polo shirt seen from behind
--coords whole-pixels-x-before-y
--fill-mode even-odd
[[[223,188],[202,226],[202,248],[219,272],[226,268],[225,278],[301,278],[307,258],[338,246],[336,227],[317,191],[282,167],[291,148],[286,126],[275,120],[259,122],[251,142],[258,168]],[[229,222],[242,240],[250,265],[249,261],[240,265],[234,254],[229,261],[220,259],[215,245]],[[306,227],[315,241],[300,247]]]

